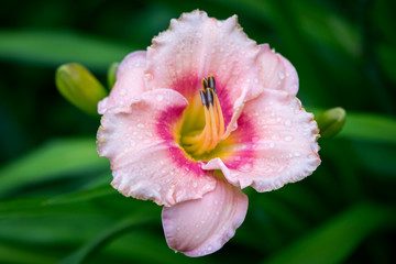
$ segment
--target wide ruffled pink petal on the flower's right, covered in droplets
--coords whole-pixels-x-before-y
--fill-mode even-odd
[[[231,184],[241,188],[277,189],[319,166],[318,132],[314,114],[307,113],[296,97],[265,89],[246,102],[234,132],[241,141],[233,146],[231,157],[224,162],[211,160],[204,169],[221,169]],[[250,150],[249,155],[241,155],[244,150]]]

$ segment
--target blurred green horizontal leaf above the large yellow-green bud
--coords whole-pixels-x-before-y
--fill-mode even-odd
[[[133,46],[77,33],[51,31],[0,31],[0,58],[50,66],[80,63],[106,72]]]

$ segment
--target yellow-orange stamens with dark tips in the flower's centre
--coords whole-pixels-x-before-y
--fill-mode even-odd
[[[216,90],[213,76],[202,79],[201,97],[205,127],[201,131],[193,131],[182,139],[185,150],[196,156],[208,153],[216,147],[224,134],[224,119]]]

